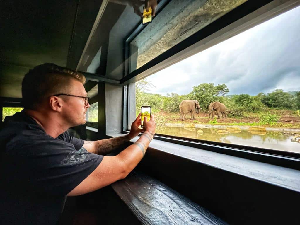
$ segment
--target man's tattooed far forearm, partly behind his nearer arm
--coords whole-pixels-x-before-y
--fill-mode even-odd
[[[130,139],[131,138],[129,135],[126,134],[119,137],[95,141],[95,153],[98,155],[106,155],[112,152],[114,149],[120,147],[122,144],[130,141]]]

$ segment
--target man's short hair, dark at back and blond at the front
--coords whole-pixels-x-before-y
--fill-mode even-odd
[[[85,76],[66,67],[45,63],[25,74],[22,81],[22,102],[24,108],[36,110],[43,100],[55,94],[66,93],[70,80],[85,83]]]

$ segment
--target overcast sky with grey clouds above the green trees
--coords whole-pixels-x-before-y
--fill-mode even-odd
[[[228,95],[300,91],[300,7],[149,76],[150,93],[188,94],[201,83]]]

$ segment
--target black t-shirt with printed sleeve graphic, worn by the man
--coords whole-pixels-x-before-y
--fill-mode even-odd
[[[57,138],[26,113],[5,118],[0,130],[0,223],[56,224],[67,193],[101,163],[84,141]]]

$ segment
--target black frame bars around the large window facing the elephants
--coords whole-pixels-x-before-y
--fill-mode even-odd
[[[123,79],[121,79],[120,83],[124,85],[124,95],[123,95],[123,131],[122,133],[126,134],[129,132],[128,130],[128,116],[129,116],[129,106],[128,106],[128,83],[137,82],[140,79],[143,79],[151,74],[157,72],[153,72],[147,76],[142,74],[146,70],[151,69],[158,63],[163,62],[164,60],[170,58],[172,55],[177,54],[178,52],[188,48],[189,46],[195,44],[196,42],[212,35],[214,32],[219,31],[220,29],[225,28],[226,26],[230,25],[231,23],[237,21],[238,19],[247,16],[250,13],[255,12],[259,8],[267,5],[272,4],[274,2],[279,2],[277,0],[264,0],[264,1],[254,1],[248,0],[245,3],[241,4],[240,6],[236,7],[235,9],[231,10],[227,14],[223,15],[219,19],[215,20],[208,26],[204,27],[203,29],[199,30],[195,34],[191,35],[181,43],[173,46],[172,48],[168,49],[166,52],[162,53],[161,55],[157,56],[156,58],[152,59],[145,65],[141,66],[137,70],[129,73],[129,65],[125,64],[125,74]],[[280,13],[284,13],[286,11],[291,10],[300,5],[297,1],[287,1],[289,4],[284,5]],[[167,1],[164,2],[166,4]],[[275,4],[275,3],[274,3]],[[280,5],[281,7],[282,5]],[[277,16],[279,13],[274,15],[274,12],[271,13],[271,17]],[[137,28],[132,32],[132,34],[127,38],[125,41],[125,59],[129,58],[129,44],[130,41],[136,37],[139,32],[141,32],[144,27],[137,26]],[[233,36],[233,35],[232,35]],[[129,63],[129,62],[128,62]],[[140,134],[141,135],[141,134]],[[300,153],[296,152],[287,152],[287,151],[278,151],[273,149],[264,149],[252,146],[242,146],[237,144],[228,144],[228,143],[219,143],[213,142],[208,140],[198,140],[192,138],[184,138],[184,137],[174,137],[170,135],[164,134],[155,134],[154,139],[162,140],[166,142],[176,143],[184,146],[191,146],[196,147],[199,149],[205,149],[213,152],[219,152],[226,155],[232,155],[236,157],[251,159],[255,161],[265,162],[269,164],[274,164],[278,166],[288,167],[292,169],[300,170]]]

